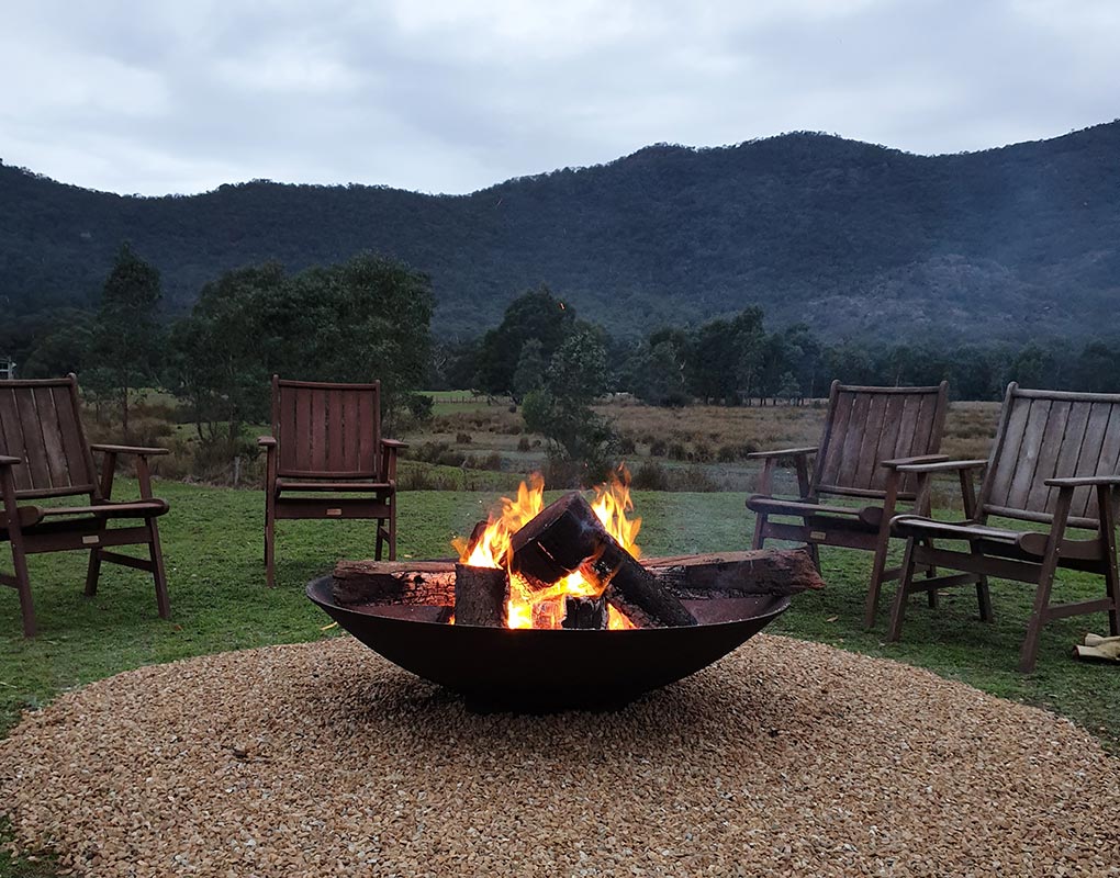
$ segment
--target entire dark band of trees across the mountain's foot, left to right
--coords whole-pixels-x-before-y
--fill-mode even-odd
[[[851,384],[935,384],[958,400],[998,400],[1007,382],[1120,392],[1120,343],[1038,339],[1025,345],[827,344],[808,323],[771,329],[758,307],[694,328],[666,327],[640,340],[580,319],[548,287],[529,290],[497,326],[467,340],[433,338],[429,279],[368,252],[300,272],[279,263],[227,271],[192,310],[161,324],[159,272],[124,244],[95,310],[56,309],[0,326],[0,353],[24,376],[77,372],[97,407],[158,385],[179,400],[199,440],[233,449],[242,427],[268,420],[269,377],[380,377],[391,409],[422,417],[421,389],[472,389],[529,402],[540,422],[579,418],[605,393],[653,405],[799,402]],[[535,398],[532,396],[538,392]],[[571,409],[571,405],[568,407]],[[587,430],[572,430],[586,435]],[[551,438],[551,437],[550,437]],[[573,440],[575,441],[575,440]]]

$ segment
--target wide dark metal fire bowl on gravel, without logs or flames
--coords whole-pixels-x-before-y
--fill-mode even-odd
[[[340,606],[332,577],[307,596],[389,661],[464,695],[511,710],[622,706],[724,657],[790,606],[786,595],[683,601],[698,624],[631,631],[510,629],[448,625],[446,607]]]

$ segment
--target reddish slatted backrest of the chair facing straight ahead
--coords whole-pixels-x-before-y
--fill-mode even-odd
[[[272,379],[277,475],[381,476],[381,382],[328,384]]]

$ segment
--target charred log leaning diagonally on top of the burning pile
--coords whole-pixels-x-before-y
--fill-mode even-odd
[[[607,600],[635,623],[644,627],[697,624],[684,605],[607,533],[578,493],[561,497],[528,522],[513,535],[512,551],[514,571],[541,587],[590,559],[596,573],[609,581]]]

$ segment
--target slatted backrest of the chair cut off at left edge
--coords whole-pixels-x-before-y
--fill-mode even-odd
[[[97,497],[74,375],[0,381],[0,454],[24,461],[12,467],[19,498]]]

